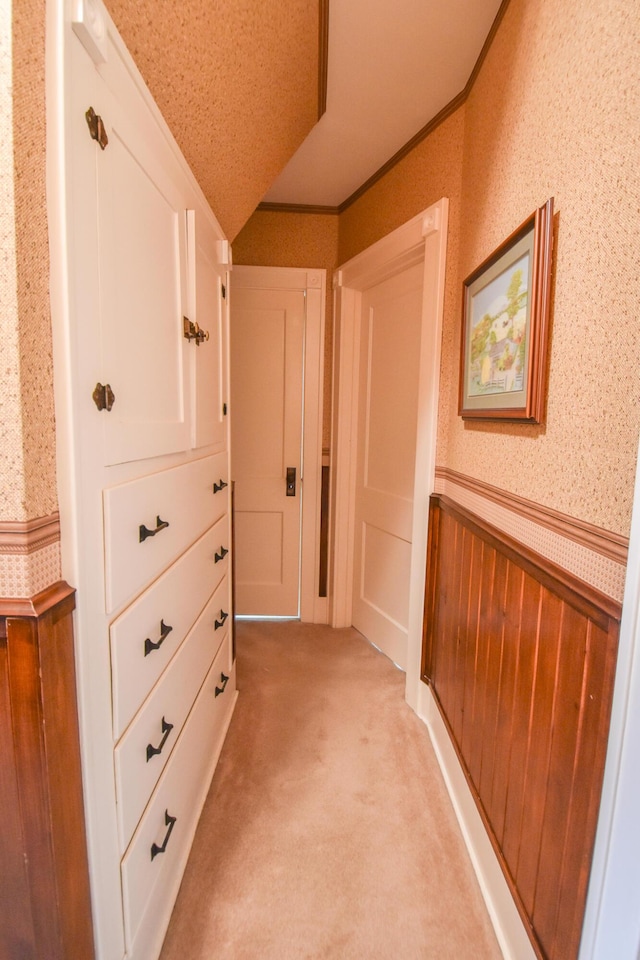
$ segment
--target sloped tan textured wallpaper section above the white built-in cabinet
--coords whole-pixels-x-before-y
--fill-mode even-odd
[[[232,240],[317,120],[318,0],[106,0]]]

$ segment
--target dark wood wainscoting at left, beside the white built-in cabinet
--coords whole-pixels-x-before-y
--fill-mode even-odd
[[[74,591],[0,599],[0,957],[92,960]]]

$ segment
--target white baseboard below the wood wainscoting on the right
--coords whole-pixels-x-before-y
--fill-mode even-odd
[[[420,684],[417,712],[429,731],[502,954],[505,960],[536,960],[449,733],[425,683]]]

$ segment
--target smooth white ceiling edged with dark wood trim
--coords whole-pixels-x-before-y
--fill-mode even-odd
[[[327,111],[270,203],[338,206],[464,88],[501,0],[330,0]]]

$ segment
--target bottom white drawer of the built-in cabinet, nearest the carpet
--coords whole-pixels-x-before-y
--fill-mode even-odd
[[[141,927],[168,923],[234,702],[227,633],[122,860],[125,936],[133,955]]]

